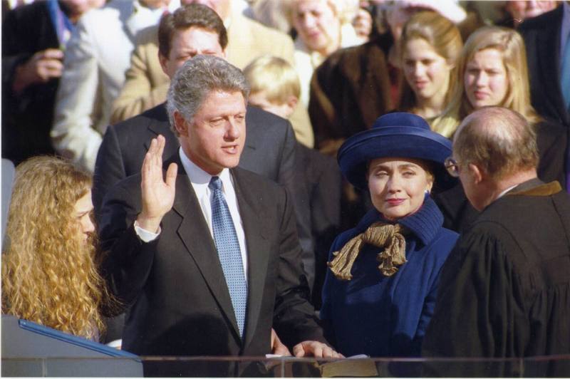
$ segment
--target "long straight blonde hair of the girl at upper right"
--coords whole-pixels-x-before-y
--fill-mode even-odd
[[[442,115],[432,124],[435,132],[451,137],[461,120],[474,109],[465,95],[464,77],[467,63],[475,53],[494,48],[501,53],[505,71],[507,72],[507,94],[501,104],[504,108],[514,110],[530,123],[541,119],[530,103],[529,70],[527,68],[527,51],[524,41],[517,31],[501,26],[484,26],[467,38],[459,60],[457,61],[457,86],[452,94],[451,102]]]

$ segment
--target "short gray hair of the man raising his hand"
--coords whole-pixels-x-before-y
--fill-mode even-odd
[[[213,90],[249,95],[249,85],[239,68],[217,56],[195,56],[178,68],[168,88],[166,110],[170,128],[178,137],[174,113],[192,123],[194,115]]]

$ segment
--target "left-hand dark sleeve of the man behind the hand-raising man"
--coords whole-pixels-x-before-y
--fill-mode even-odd
[[[93,207],[95,217],[100,214],[105,194],[120,180],[125,179],[125,165],[119,140],[113,125],[107,128],[95,162],[93,175]]]

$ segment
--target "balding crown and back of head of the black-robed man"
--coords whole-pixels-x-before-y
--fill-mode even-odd
[[[463,120],[453,140],[454,156],[462,164],[474,163],[492,180],[536,170],[537,135],[514,110],[486,107]]]

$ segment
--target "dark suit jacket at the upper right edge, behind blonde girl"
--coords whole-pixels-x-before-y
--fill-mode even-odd
[[[560,87],[560,28],[564,7],[524,21],[519,32],[527,47],[532,105],[545,118],[570,128]]]

